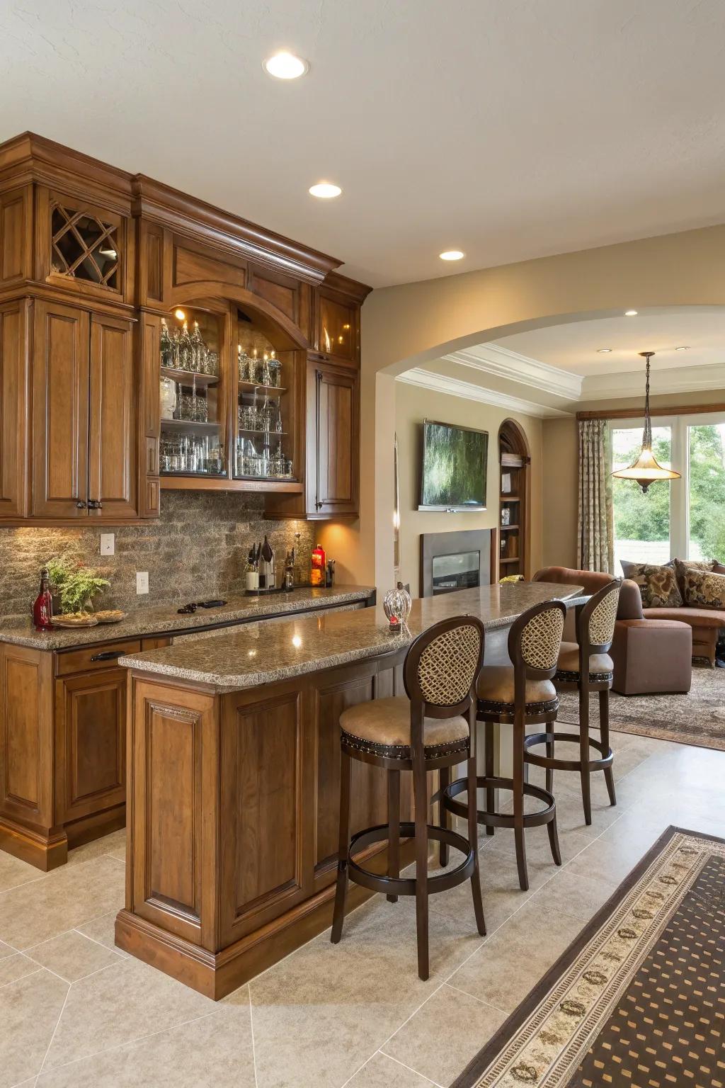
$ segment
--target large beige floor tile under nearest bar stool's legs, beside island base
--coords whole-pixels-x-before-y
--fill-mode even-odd
[[[250,982],[259,1088],[339,1088],[480,943],[467,917],[432,912],[422,982],[415,904],[354,911],[339,944],[323,934]]]

